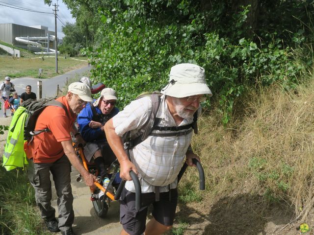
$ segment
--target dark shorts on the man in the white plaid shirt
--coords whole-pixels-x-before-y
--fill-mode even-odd
[[[135,193],[123,189],[120,198],[120,222],[123,229],[130,235],[142,234],[145,231],[147,209],[153,205],[153,216],[165,226],[172,226],[178,202],[177,188],[171,189],[171,200],[169,192],[160,192],[159,201],[155,201],[155,193],[142,193],[141,208],[135,209]]]

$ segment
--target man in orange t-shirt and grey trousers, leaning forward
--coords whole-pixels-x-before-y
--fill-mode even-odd
[[[35,189],[36,203],[41,211],[50,232],[61,231],[62,235],[74,235],[73,195],[71,188],[71,164],[78,170],[89,187],[94,186],[96,177],[85,170],[72,147],[71,130],[77,114],[87,102],[93,101],[90,89],[83,83],[70,84],[68,93],[56,99],[66,110],[56,106],[48,106],[37,118],[35,130],[49,128],[51,132],[43,132],[34,136],[28,145],[27,152],[32,153],[29,159],[28,178]],[[73,133],[76,134],[76,133]],[[51,206],[53,176],[58,196],[59,221],[55,218],[55,210]]]

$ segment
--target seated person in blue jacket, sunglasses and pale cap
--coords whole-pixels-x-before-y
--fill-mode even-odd
[[[83,140],[84,155],[88,162],[94,160],[99,176],[106,176],[106,168],[115,159],[105,136],[105,123],[115,116],[119,109],[115,107],[117,101],[116,92],[111,88],[102,90],[94,103],[87,103],[86,107],[78,115],[78,126]]]

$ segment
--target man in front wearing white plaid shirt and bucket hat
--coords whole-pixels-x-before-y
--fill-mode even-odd
[[[177,207],[177,176],[184,161],[192,165],[193,158],[199,160],[190,142],[194,114],[200,115],[200,103],[212,95],[204,69],[194,64],[172,67],[169,82],[161,93],[155,119],[159,122],[144,141],[130,149],[131,161],[123,148],[122,137],[130,131],[131,135],[140,135],[141,127],[150,118],[151,96],[132,101],[105,124],[107,140],[120,163],[120,177],[127,180],[120,198],[121,235],[159,235],[170,230]],[[142,189],[140,210],[135,209],[135,188],[130,170],[139,177]],[[153,219],[146,225],[150,204],[154,208]]]

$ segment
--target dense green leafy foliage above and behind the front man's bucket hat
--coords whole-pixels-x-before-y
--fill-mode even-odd
[[[78,24],[89,13],[97,18],[88,23],[97,44],[84,53],[94,66],[93,79],[116,89],[121,106],[143,91],[160,90],[175,64],[195,63],[206,69],[227,123],[247,86],[279,81],[294,88],[312,65],[312,56],[300,49],[313,35],[308,0],[65,2]],[[296,60],[295,51],[302,59]]]

